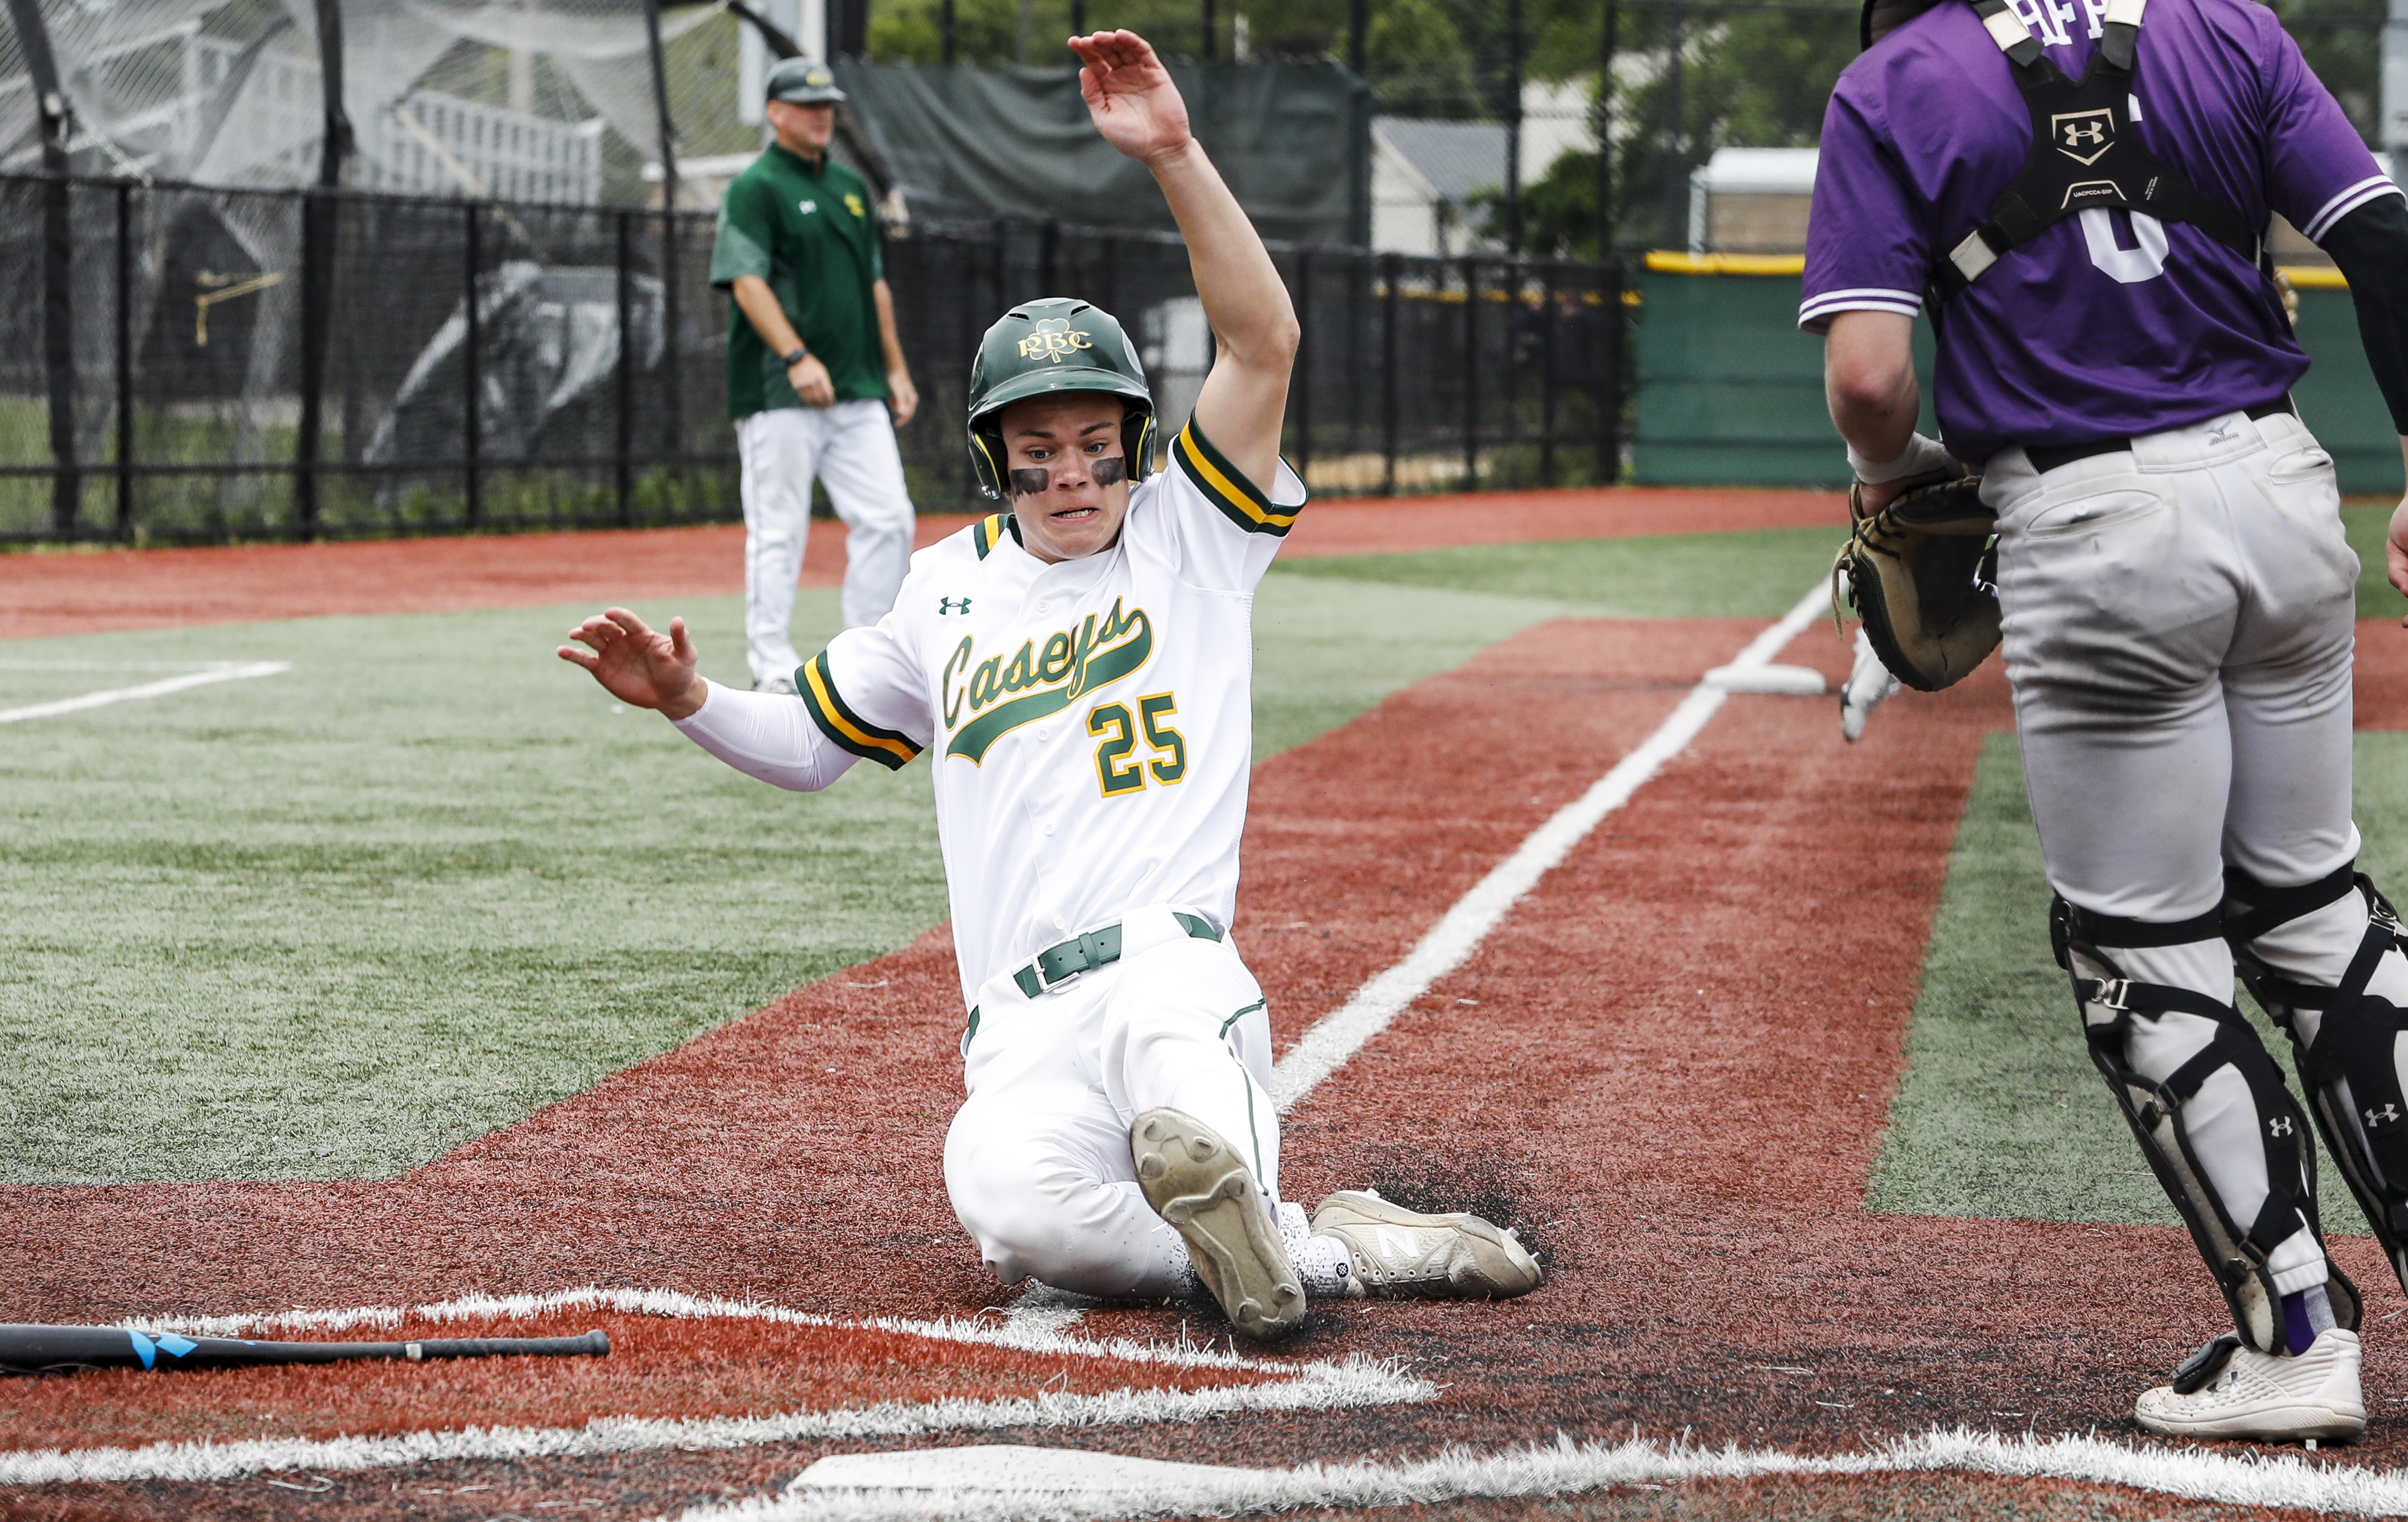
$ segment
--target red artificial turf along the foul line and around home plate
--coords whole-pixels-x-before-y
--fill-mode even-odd
[[[1262,766],[1238,944],[1281,1043],[1401,956],[1758,626],[1541,626]],[[2362,636],[2360,722],[2408,722],[2408,636]],[[1837,677],[1847,650],[1816,626],[1784,660]],[[1293,1197],[1380,1182],[1409,1202],[1486,1209],[1544,1250],[1551,1284],[1524,1300],[1322,1308],[1288,1346],[1406,1358],[1445,1387],[1438,1402],[1047,1440],[1296,1464],[1556,1430],[1823,1452],[1934,1423],[2133,1435],[2131,1394],[2223,1322],[2179,1231],[1861,1211],[1975,756],[2008,722],[1996,662],[1948,694],[1898,698],[1857,747],[1840,742],[1830,698],[1734,696],[1462,971],[1291,1117]],[[0,1190],[0,1315],[583,1281],[759,1293],[833,1315],[966,1312],[1004,1291],[980,1274],[942,1192],[956,1002],[937,932],[402,1180]],[[2345,1211],[2336,1202],[2333,1216]],[[116,1231],[132,1219],[142,1233]],[[113,1262],[70,1250],[111,1235]],[[2374,1317],[2398,1310],[2369,1243],[2341,1238],[2336,1252]],[[1091,1310],[1081,1329],[1175,1337],[1182,1317],[1211,1322],[1120,1308]],[[2369,1440],[2324,1462],[2408,1455],[2386,1421],[2408,1399],[2389,1363],[2394,1325],[2369,1320]],[[626,1515],[763,1488],[826,1450],[412,1476],[494,1483],[477,1500],[486,1515],[573,1486],[607,1488]],[[344,1483],[344,1515],[407,1515],[380,1486]],[[1890,1505],[1919,1481],[1796,1483],[1813,1491],[1811,1515],[1893,1515],[1849,1512],[1847,1496]],[[2020,1481],[1955,1493],[1984,1486],[2028,1496],[2035,1517],[2124,1515],[2049,1510],[2059,1491]],[[120,1496],[246,1515],[253,1491]],[[1563,1505],[1618,1515],[1604,1500]]]

